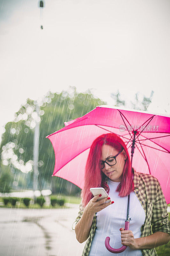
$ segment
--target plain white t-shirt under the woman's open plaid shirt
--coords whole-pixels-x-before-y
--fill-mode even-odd
[[[96,230],[92,239],[89,256],[142,256],[141,250],[132,250],[127,247],[124,252],[116,254],[109,252],[105,246],[105,239],[109,236],[109,244],[112,248],[122,247],[121,231],[119,229],[124,228],[128,196],[118,196],[119,192],[115,190],[119,183],[112,180],[108,182],[110,188],[109,197],[114,203],[96,213]],[[131,219],[129,230],[132,230],[134,238],[139,238],[141,236],[141,226],[145,220],[145,212],[134,191],[130,193],[129,218]]]

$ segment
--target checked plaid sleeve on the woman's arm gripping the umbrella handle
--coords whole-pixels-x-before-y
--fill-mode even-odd
[[[167,204],[158,180],[156,200],[153,205],[151,225],[153,233],[161,231],[170,234],[170,221],[168,220]]]

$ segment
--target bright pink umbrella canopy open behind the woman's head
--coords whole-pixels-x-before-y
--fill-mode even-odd
[[[102,105],[64,124],[64,128],[46,137],[55,152],[52,176],[83,188],[85,164],[93,140],[114,132],[124,141],[131,156],[133,131],[137,131],[132,166],[137,172],[156,177],[166,203],[170,203],[170,116]]]

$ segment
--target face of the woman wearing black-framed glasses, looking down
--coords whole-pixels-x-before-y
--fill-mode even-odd
[[[120,152],[110,145],[103,145],[101,148],[101,151],[102,151],[102,156],[100,160],[102,161],[105,161],[107,157],[115,156]],[[123,149],[123,151],[118,156],[116,156],[116,164],[109,166],[107,163],[105,163],[105,166],[103,169],[101,169],[101,171],[104,172],[104,174],[107,177],[109,177],[110,180],[115,182],[120,182],[126,157],[127,157],[127,154]]]

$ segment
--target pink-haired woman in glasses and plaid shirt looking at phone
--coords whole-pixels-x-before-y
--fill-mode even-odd
[[[101,195],[93,197],[92,187],[105,188],[109,197],[97,201]],[[130,230],[124,230],[129,194]],[[159,181],[131,170],[126,145],[116,134],[103,134],[93,141],[81,197],[75,232],[79,243],[88,239],[82,256],[114,255],[105,247],[107,236],[112,248],[127,245],[116,254],[120,256],[157,255],[154,247],[169,242],[170,222]]]

